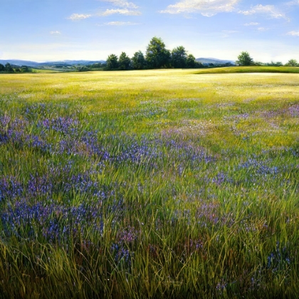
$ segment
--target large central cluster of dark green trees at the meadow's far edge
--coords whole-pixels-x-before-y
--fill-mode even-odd
[[[118,58],[111,54],[107,58],[107,70],[143,70],[147,68],[201,68],[203,65],[188,54],[183,46],[169,51],[161,38],[153,37],[147,46],[145,55],[142,51],[130,58],[125,52]]]

